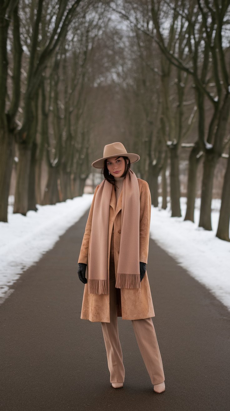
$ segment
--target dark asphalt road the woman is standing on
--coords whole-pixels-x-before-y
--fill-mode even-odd
[[[131,321],[118,319],[124,388],[114,390],[100,323],[80,319],[77,277],[87,214],[21,275],[0,305],[0,410],[230,410],[230,313],[150,240],[166,391],[153,386]]]

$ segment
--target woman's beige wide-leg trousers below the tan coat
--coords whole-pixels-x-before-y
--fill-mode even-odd
[[[101,323],[101,325],[107,351],[110,382],[123,383],[125,368],[118,336],[115,283],[114,254],[111,252],[109,263],[110,323]],[[162,383],[164,371],[152,319],[132,320],[132,326],[152,384]]]

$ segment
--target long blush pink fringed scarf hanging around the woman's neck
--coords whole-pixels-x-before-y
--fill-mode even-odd
[[[93,207],[88,263],[89,294],[108,293],[109,204],[112,184],[102,181]],[[136,175],[129,170],[123,182],[121,242],[116,288],[141,288],[139,266],[140,196]]]

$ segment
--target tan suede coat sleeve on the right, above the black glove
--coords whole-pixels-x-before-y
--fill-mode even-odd
[[[147,263],[151,217],[151,196],[148,183],[142,180],[140,192],[140,261]]]

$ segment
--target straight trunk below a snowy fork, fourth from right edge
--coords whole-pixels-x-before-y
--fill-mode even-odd
[[[170,192],[172,217],[181,217],[178,144],[170,146]]]

